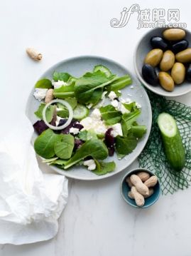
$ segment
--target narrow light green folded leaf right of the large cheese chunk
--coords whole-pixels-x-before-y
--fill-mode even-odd
[[[122,126],[124,136],[126,136],[129,133],[129,130],[131,129],[133,122],[136,121],[136,119],[140,114],[141,114],[141,110],[136,109],[131,113],[124,113],[124,115],[122,115],[121,126]]]

